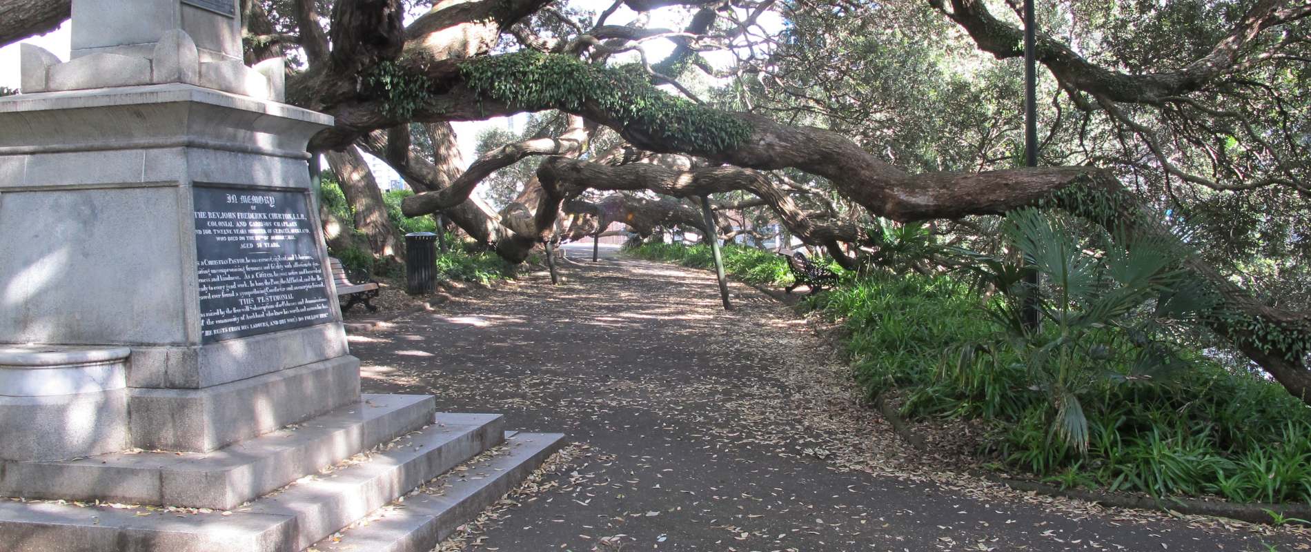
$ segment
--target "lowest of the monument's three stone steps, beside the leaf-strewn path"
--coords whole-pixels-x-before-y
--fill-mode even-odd
[[[511,433],[513,431],[507,431]],[[429,552],[455,530],[528,477],[564,446],[558,433],[518,433],[505,454],[476,459],[460,476],[444,479],[438,496],[416,493],[384,506],[357,527],[313,545],[321,552]]]

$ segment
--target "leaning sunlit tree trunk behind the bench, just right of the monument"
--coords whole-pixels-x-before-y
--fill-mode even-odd
[[[364,155],[351,146],[346,151],[329,151],[326,157],[346,202],[355,211],[355,229],[368,239],[370,253],[387,262],[404,262],[405,253],[396,228],[387,218],[383,191],[364,163]]]

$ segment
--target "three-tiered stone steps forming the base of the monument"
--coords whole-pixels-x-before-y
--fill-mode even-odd
[[[431,396],[363,395],[207,454],[0,463],[0,496],[24,497],[0,502],[0,543],[13,552],[431,549],[564,443],[560,434],[506,433],[499,414],[433,409]],[[498,446],[472,468],[485,477],[408,497],[382,522],[350,528]],[[338,542],[315,544],[330,538]]]

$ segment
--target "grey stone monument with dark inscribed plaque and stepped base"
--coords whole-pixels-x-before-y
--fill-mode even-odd
[[[282,59],[243,63],[237,1],[73,0],[71,60],[22,46],[0,98],[0,551],[299,551],[503,442],[494,414],[361,395],[309,195],[332,118],[282,104]],[[560,435],[518,439],[515,473]]]

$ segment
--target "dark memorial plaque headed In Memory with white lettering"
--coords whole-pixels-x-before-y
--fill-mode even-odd
[[[203,344],[333,319],[304,193],[195,186],[193,194]]]

